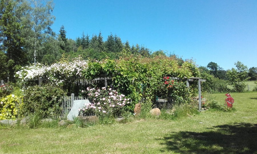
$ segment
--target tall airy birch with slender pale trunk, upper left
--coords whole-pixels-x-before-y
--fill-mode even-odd
[[[51,35],[51,26],[54,23],[55,17],[51,14],[53,12],[53,1],[41,0],[24,0],[26,6],[25,17],[22,18],[23,36],[26,38],[26,48],[30,52],[31,61],[36,63],[37,59],[42,59],[44,46],[47,37]],[[24,12],[23,12],[24,13]]]

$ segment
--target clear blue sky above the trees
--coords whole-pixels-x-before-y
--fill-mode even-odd
[[[104,40],[117,34],[130,46],[192,58],[198,66],[216,62],[225,70],[241,61],[257,67],[257,0],[54,0],[52,26],[68,38],[82,32]]]

